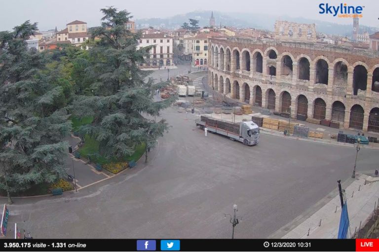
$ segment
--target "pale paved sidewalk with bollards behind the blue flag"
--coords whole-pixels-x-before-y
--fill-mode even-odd
[[[368,181],[366,184],[365,180]],[[369,180],[371,181],[369,182]],[[354,235],[355,229],[358,232],[359,225],[363,228],[369,217],[371,217],[374,207],[378,206],[379,182],[378,178],[373,179],[370,176],[361,174],[357,179],[350,179],[346,181],[346,183],[350,183],[345,188],[344,193],[345,198],[347,198],[347,209],[350,221],[347,237],[350,238]],[[342,184],[342,188],[346,186],[346,183]],[[337,186],[336,181],[336,187]],[[329,202],[325,204],[328,200]],[[286,226],[280,228],[269,238],[336,239],[341,217],[341,201],[338,190],[334,190],[327,197],[318,202],[316,206],[317,205],[324,206],[310,216],[299,216]],[[312,209],[314,208],[312,207]],[[299,222],[301,223],[299,224]]]

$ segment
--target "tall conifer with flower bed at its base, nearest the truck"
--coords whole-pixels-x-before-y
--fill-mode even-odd
[[[96,79],[90,86],[94,92],[78,95],[73,112],[80,118],[94,117],[78,132],[95,138],[101,155],[122,158],[133,154],[139,144],[152,148],[163,136],[168,129],[166,121],[150,118],[159,116],[173,99],[153,101],[155,91],[168,83],[153,84],[151,78],[146,80],[150,72],[138,68],[152,47],[137,49],[141,34],[126,28],[130,13],[112,6],[101,11],[102,26],[92,32],[92,39],[100,39],[89,49],[92,60],[85,70],[88,79]]]

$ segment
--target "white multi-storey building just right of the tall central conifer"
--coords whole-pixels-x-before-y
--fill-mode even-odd
[[[141,67],[158,68],[173,66],[173,40],[171,36],[165,34],[145,34],[142,35],[138,47],[153,45],[150,55],[146,57],[146,63]]]

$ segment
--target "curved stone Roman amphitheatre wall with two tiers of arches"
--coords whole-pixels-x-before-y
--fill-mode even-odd
[[[379,52],[309,41],[212,38],[209,83],[240,102],[379,132]]]

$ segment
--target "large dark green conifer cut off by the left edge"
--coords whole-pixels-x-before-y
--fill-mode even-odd
[[[11,192],[66,176],[65,88],[45,68],[44,54],[27,49],[36,30],[27,21],[0,32],[0,189]]]

